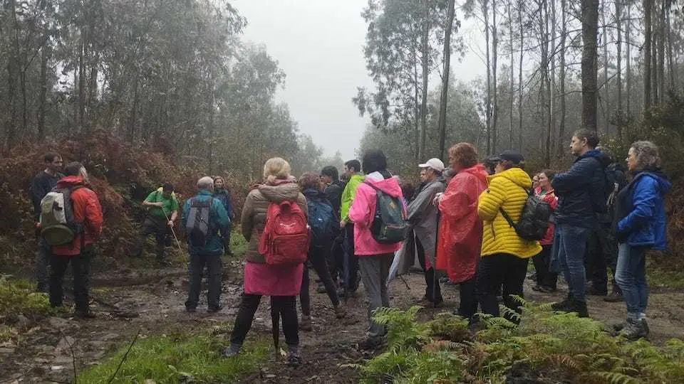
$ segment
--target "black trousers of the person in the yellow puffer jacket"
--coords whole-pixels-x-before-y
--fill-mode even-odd
[[[499,303],[497,293],[503,284],[504,304],[517,311],[519,314],[520,304],[515,302],[512,295],[523,297],[522,284],[527,274],[527,259],[521,259],[514,255],[497,253],[483,256],[477,267],[477,299],[485,314],[499,316]],[[519,316],[504,314],[504,318],[519,324]]]

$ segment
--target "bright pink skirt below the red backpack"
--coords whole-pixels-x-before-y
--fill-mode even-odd
[[[297,296],[304,265],[283,267],[259,262],[244,265],[244,293],[261,296]]]

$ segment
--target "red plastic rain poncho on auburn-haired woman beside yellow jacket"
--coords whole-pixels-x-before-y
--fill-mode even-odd
[[[485,189],[487,171],[477,164],[456,174],[440,201],[437,269],[446,270],[452,282],[465,282],[475,276],[482,246],[477,198]]]

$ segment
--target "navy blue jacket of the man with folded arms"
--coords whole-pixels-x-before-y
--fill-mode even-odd
[[[597,214],[606,212],[606,172],[610,157],[598,149],[579,156],[569,171],[551,181],[558,208],[556,223],[594,228]]]

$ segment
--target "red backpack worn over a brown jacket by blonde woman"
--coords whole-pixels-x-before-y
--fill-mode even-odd
[[[268,265],[297,265],[309,254],[309,225],[293,201],[269,203],[259,253]]]

